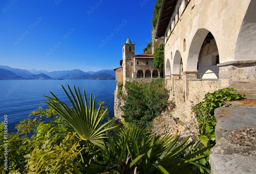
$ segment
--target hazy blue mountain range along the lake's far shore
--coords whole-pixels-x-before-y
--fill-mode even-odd
[[[67,71],[52,71],[46,70],[25,70],[18,68],[11,68],[9,66],[0,65],[0,80],[53,80],[53,79],[115,79],[115,71],[103,69],[100,71],[88,71],[84,72],[79,69],[67,70]]]

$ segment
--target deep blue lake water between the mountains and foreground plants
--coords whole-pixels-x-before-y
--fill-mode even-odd
[[[28,118],[32,111],[39,107],[47,108],[48,105],[41,102],[47,101],[44,95],[52,96],[49,91],[60,101],[70,104],[61,84],[67,91],[67,84],[73,92],[73,84],[76,89],[79,87],[81,93],[85,89],[87,100],[92,92],[95,103],[105,101],[103,106],[108,107],[109,117],[114,117],[115,80],[0,80],[0,122],[4,121],[4,115],[8,115],[8,131],[16,133],[15,125]],[[33,119],[36,116],[30,117]],[[45,121],[45,117],[42,120]]]

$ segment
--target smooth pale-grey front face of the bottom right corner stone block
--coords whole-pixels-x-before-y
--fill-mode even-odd
[[[211,174],[256,173],[255,156],[212,154],[209,161]]]

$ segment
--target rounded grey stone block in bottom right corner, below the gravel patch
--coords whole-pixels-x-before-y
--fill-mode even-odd
[[[232,144],[223,137],[211,149],[211,174],[256,173],[255,154],[255,147]]]

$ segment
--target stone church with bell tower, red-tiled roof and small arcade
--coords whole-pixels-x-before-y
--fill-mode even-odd
[[[152,54],[135,55],[135,43],[128,38],[122,46],[123,59],[119,68],[115,68],[116,81],[122,82],[127,78],[163,78],[163,69],[153,67]]]

